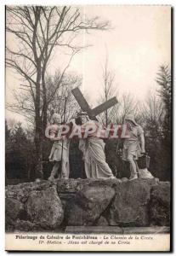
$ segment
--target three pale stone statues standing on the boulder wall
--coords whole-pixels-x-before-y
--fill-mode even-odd
[[[88,125],[95,125],[99,128],[99,122],[89,119],[88,113],[81,112],[77,115],[81,120],[82,127],[86,128]],[[48,180],[52,181],[57,176],[59,178],[69,178],[69,144],[68,137],[57,137],[58,127],[61,125],[61,117],[59,113],[53,114],[53,123],[55,127],[51,133],[51,140],[54,142],[49,154],[49,160],[54,162]],[[72,127],[76,125],[75,119],[72,121]],[[144,131],[140,125],[135,122],[132,114],[128,114],[124,123],[128,127],[129,137],[123,139],[122,160],[130,163],[130,180],[138,178],[138,158],[145,154],[145,137]],[[72,128],[72,129],[73,129]],[[101,137],[96,136],[96,132],[91,133],[91,136],[86,138],[79,138],[79,149],[82,151],[86,176],[88,178],[116,178],[111,172],[110,166],[105,160],[105,143]],[[60,170],[60,172],[59,172]]]

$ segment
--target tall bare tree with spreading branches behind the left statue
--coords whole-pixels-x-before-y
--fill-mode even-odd
[[[23,81],[21,86],[26,91],[27,101],[24,96],[20,97],[23,99],[21,109],[33,113],[35,119],[37,177],[43,177],[42,140],[48,110],[46,72],[54,49],[71,49],[61,82],[73,56],[82,48],[74,45],[78,32],[105,30],[109,24],[99,21],[98,17],[82,20],[79,8],[66,6],[7,6],[6,14],[6,32],[16,43],[11,49],[7,42],[6,65],[19,73]]]

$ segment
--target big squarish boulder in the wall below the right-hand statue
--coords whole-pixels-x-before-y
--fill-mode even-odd
[[[149,225],[147,205],[150,201],[150,185],[136,179],[116,186],[116,195],[107,214],[110,225]]]

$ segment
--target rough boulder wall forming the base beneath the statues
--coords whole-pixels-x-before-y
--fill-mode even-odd
[[[169,226],[170,183],[158,179],[69,179],[6,188],[6,230],[68,226]]]

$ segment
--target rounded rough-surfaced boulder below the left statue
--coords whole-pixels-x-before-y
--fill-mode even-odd
[[[46,230],[55,229],[64,218],[62,203],[55,187],[31,191],[26,202],[26,211],[32,223]]]

